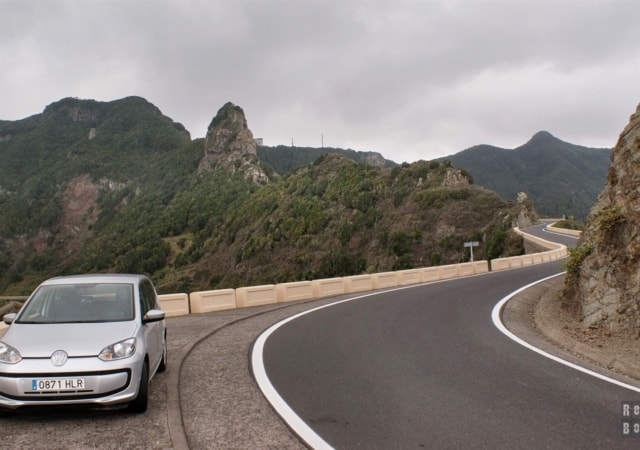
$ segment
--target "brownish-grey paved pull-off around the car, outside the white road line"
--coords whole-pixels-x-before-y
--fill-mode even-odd
[[[324,300],[325,302],[327,300]],[[2,446],[15,449],[299,449],[253,381],[253,340],[280,318],[321,301],[167,319],[168,369],[151,381],[149,408],[10,412]]]

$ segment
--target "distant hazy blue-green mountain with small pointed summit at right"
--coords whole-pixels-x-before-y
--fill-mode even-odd
[[[526,192],[547,217],[584,220],[602,190],[610,149],[561,141],[546,131],[515,149],[478,145],[446,159],[507,200]]]

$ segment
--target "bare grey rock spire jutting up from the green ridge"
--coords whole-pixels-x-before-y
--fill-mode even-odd
[[[222,168],[240,172],[254,183],[264,184],[269,177],[260,166],[256,143],[247,126],[244,111],[226,103],[211,121],[204,142],[199,171]]]

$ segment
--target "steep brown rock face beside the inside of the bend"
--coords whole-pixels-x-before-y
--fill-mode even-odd
[[[640,335],[640,106],[569,261],[567,304],[585,326]]]

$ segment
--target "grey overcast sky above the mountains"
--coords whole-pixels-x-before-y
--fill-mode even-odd
[[[396,162],[540,130],[613,147],[640,103],[638,0],[0,0],[0,119],[144,97],[206,134]]]

